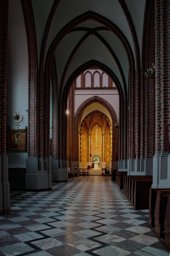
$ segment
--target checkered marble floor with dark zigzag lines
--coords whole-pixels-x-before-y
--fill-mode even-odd
[[[79,176],[53,191],[11,193],[0,216],[0,255],[168,256],[109,176]]]

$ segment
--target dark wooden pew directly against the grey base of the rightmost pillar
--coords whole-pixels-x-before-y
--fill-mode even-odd
[[[155,212],[155,204],[156,204],[156,198],[157,198],[158,191],[170,192],[170,189],[168,189],[168,188],[149,188],[149,221],[148,221],[148,224],[150,227],[155,226],[154,212]]]

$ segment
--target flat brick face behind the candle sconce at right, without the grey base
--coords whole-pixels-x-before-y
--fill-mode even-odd
[[[149,1],[146,41],[145,44],[145,70],[155,64],[155,19],[154,19],[154,0]],[[145,81],[145,157],[153,158],[155,153],[155,79]]]

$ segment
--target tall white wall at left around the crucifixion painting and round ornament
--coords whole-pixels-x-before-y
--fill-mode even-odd
[[[19,128],[28,124],[28,50],[20,0],[9,1],[7,127],[16,129],[15,110],[23,115]],[[8,151],[9,167],[25,167],[26,152]]]

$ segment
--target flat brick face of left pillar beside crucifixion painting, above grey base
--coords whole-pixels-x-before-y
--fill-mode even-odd
[[[37,44],[30,0],[21,1],[28,44],[28,157],[39,155],[39,87],[37,81]],[[41,117],[40,117],[41,120]]]

